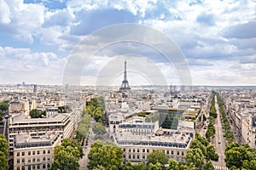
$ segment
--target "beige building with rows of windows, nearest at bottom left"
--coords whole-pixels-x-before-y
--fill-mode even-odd
[[[60,133],[46,133],[43,136],[16,135],[14,170],[48,169],[53,162],[55,146],[60,143]]]

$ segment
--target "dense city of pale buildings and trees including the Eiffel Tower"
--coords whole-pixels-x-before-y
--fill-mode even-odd
[[[255,169],[255,87],[191,90],[2,85],[1,167]]]

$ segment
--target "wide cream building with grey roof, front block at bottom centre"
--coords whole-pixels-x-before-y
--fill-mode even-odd
[[[160,129],[153,136],[134,135],[120,130],[114,134],[115,143],[124,150],[125,161],[146,161],[148,153],[163,150],[170,159],[185,161],[185,155],[193,139],[193,129],[173,131]]]

